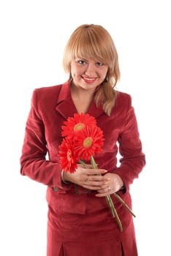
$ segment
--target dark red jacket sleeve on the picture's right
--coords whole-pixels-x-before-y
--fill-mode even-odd
[[[134,178],[138,178],[139,173],[145,166],[145,154],[142,152],[142,143],[137,126],[137,118],[132,107],[132,99],[129,96],[129,105],[125,113],[123,131],[118,137],[119,153],[121,165],[117,167],[115,173],[121,176],[126,190],[132,184]]]

